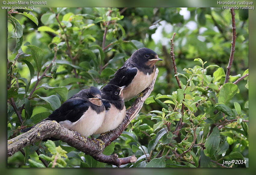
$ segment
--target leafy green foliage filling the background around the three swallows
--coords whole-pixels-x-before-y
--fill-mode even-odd
[[[15,36],[12,24],[8,24],[8,38],[11,37],[8,39],[8,59],[11,62],[8,74],[12,75],[8,77],[12,84],[8,86],[8,99],[13,98],[18,108],[22,108],[23,104],[25,108],[21,114],[24,122],[20,123],[8,103],[8,137],[20,134],[21,125],[30,126],[44,119],[81,89],[89,86],[101,88],[136,49],[148,47],[164,59],[157,63],[159,74],[154,91],[145,102],[140,116],[110,145],[108,153],[115,152],[119,157],[135,154],[138,161],[126,167],[197,167],[198,162],[200,167],[218,167],[211,160],[222,164],[221,158],[246,160],[248,163],[248,126],[242,122],[242,119],[248,120],[248,84],[245,80],[240,81],[238,87],[232,84],[248,73],[248,11],[235,11],[236,51],[230,83],[222,86],[232,40],[230,11],[188,8],[190,17],[184,19],[179,13],[180,8],[127,8],[120,15],[121,10],[36,8],[31,12],[35,17],[26,13],[11,14],[17,22],[8,17],[17,24]],[[106,26],[105,46],[102,47]],[[191,26],[195,28],[191,29]],[[176,32],[174,53],[177,72],[183,89],[178,89],[173,75],[170,44],[164,42],[172,37],[173,32]],[[154,33],[158,33],[159,42],[152,39]],[[57,58],[52,62],[54,43],[57,44]],[[19,50],[20,46],[23,52]],[[47,71],[48,77],[43,77],[30,95],[38,72],[40,77],[50,63],[53,66]],[[187,96],[183,102],[185,113],[181,114],[183,93]],[[132,101],[127,102],[126,107],[131,104]],[[227,120],[237,119],[237,122],[220,130],[212,127],[214,123],[219,125],[220,120],[223,122],[223,116]],[[173,140],[176,136],[172,132],[181,117],[185,125]],[[209,131],[212,131],[211,134],[208,134]],[[194,132],[197,137],[194,143],[197,145],[190,153],[177,159],[176,155],[181,155],[194,144]],[[60,158],[64,161],[60,161],[62,164],[59,167],[111,167],[96,162],[61,141],[55,142],[55,145],[61,147],[59,152],[64,149],[68,157]],[[24,149],[25,159],[21,152],[17,152],[8,158],[8,166],[43,166],[35,150],[39,149],[49,158],[54,154],[45,146],[42,142],[40,146],[39,143],[27,146]],[[206,149],[203,150],[204,147]],[[51,162],[51,159],[44,158]],[[247,165],[233,165],[237,166]]]

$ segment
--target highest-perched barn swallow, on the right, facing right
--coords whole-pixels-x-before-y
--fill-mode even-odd
[[[108,84],[126,86],[123,89],[123,100],[128,101],[150,85],[155,76],[157,61],[163,60],[153,50],[145,47],[138,49],[117,70]]]

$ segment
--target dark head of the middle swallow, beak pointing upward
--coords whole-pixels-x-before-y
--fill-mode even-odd
[[[123,99],[123,88],[114,84],[107,84],[101,89],[101,97],[109,101],[119,101]]]

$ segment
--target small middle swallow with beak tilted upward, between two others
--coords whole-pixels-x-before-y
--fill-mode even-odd
[[[123,122],[126,115],[123,101],[124,87],[125,86],[119,87],[114,84],[107,84],[100,90],[106,114],[103,124],[93,135],[111,131]]]

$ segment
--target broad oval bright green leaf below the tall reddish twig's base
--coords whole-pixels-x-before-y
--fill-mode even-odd
[[[218,102],[227,104],[234,97],[234,95],[237,93],[237,91],[238,91],[238,87],[236,84],[225,83],[220,88]]]

